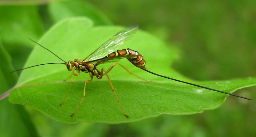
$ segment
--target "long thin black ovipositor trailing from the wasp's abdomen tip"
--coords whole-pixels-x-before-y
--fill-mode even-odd
[[[252,100],[251,98],[242,97],[242,96],[239,96],[239,95],[236,95],[236,94],[232,94],[232,93],[228,93],[228,92],[224,92],[224,91],[220,91],[220,90],[215,90],[215,89],[212,89],[212,88],[207,88],[207,87],[196,85],[196,84],[193,84],[193,83],[188,83],[188,82],[181,81],[181,80],[178,80],[178,79],[174,79],[174,78],[170,78],[170,77],[167,77],[167,76],[162,76],[162,75],[156,74],[156,73],[151,72],[151,71],[149,71],[147,69],[143,69],[143,68],[141,68],[141,69],[147,71],[148,73],[154,74],[156,76],[161,76],[161,77],[164,77],[164,78],[167,78],[167,79],[171,79],[171,80],[174,80],[174,81],[178,81],[178,82],[181,82],[181,83],[186,83],[186,84],[193,85],[193,86],[200,87],[200,88],[204,88],[204,89],[207,89],[207,90],[217,91],[217,92],[220,92],[220,93],[224,93],[224,94],[228,94],[228,95],[232,95],[232,96],[236,96],[236,97]]]

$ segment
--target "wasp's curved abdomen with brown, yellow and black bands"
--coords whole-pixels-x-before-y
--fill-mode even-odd
[[[147,69],[145,67],[146,61],[144,60],[143,56],[138,51],[135,51],[129,48],[112,52],[108,54],[107,57],[108,58],[115,58],[115,57],[127,58],[136,67]]]

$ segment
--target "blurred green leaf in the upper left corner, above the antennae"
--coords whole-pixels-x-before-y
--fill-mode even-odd
[[[4,45],[32,47],[28,38],[38,40],[41,37],[43,27],[36,6],[0,6],[0,14],[4,15],[0,18],[0,36]]]

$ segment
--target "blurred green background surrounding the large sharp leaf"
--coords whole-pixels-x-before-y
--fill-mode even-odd
[[[95,25],[139,24],[140,29],[179,49],[180,57],[166,67],[189,78],[224,80],[256,75],[255,0],[3,0],[0,4],[0,39],[7,51],[1,53],[10,54],[12,61],[8,61],[14,68],[22,68],[33,49],[28,38],[39,40],[63,18],[86,16]],[[1,85],[4,90],[0,93],[15,83],[6,82],[8,87]],[[255,90],[251,87],[237,92],[244,96],[250,92],[256,98]],[[256,136],[255,101],[235,97],[202,114],[162,115],[118,125],[66,125],[32,108],[9,104],[7,98],[0,106],[0,133],[4,136]]]

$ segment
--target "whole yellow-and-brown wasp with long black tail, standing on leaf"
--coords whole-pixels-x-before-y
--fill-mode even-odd
[[[247,98],[247,97],[242,97],[242,96],[235,95],[235,94],[232,94],[232,93],[228,93],[228,92],[224,92],[224,91],[220,91],[220,90],[215,90],[215,89],[212,89],[212,88],[204,87],[204,86],[201,86],[201,85],[196,85],[196,84],[193,84],[193,83],[184,82],[184,81],[181,81],[181,80],[173,79],[173,78],[170,78],[170,77],[167,77],[167,76],[162,76],[162,75],[159,75],[159,74],[156,74],[154,72],[149,71],[145,66],[146,61],[145,61],[144,57],[138,51],[135,51],[135,50],[132,50],[132,49],[129,49],[129,48],[122,49],[122,50],[117,50],[126,40],[130,40],[135,35],[137,30],[138,30],[138,25],[132,25],[132,26],[126,27],[123,30],[121,30],[120,32],[116,33],[116,35],[114,35],[109,40],[107,40],[104,44],[102,44],[98,49],[96,49],[92,54],[90,54],[86,58],[84,58],[84,59],[75,59],[74,61],[68,61],[68,62],[62,60],[59,56],[54,54],[49,49],[43,47],[42,45],[40,45],[36,41],[30,39],[31,41],[35,42],[39,46],[48,50],[49,52],[51,52],[52,54],[54,54],[56,57],[58,57],[60,60],[62,60],[64,62],[64,63],[45,63],[45,64],[39,64],[39,65],[31,66],[31,67],[36,67],[36,66],[46,65],[46,64],[65,64],[68,71],[72,71],[72,73],[69,77],[70,81],[71,81],[71,84],[68,88],[66,96],[63,99],[63,102],[60,103],[60,106],[63,105],[65,103],[66,99],[67,99],[68,93],[69,93],[69,91],[71,89],[71,86],[72,86],[72,83],[73,83],[72,76],[79,76],[81,72],[89,73],[91,79],[88,79],[88,80],[84,81],[83,97],[82,97],[81,101],[79,102],[79,105],[76,107],[75,112],[73,114],[71,114],[71,117],[73,117],[76,114],[76,112],[79,110],[79,107],[81,106],[81,104],[84,100],[86,84],[92,82],[94,76],[97,79],[101,79],[102,76],[107,76],[109,85],[110,85],[110,87],[111,87],[111,89],[112,89],[112,91],[113,91],[113,93],[116,97],[116,101],[118,102],[119,107],[120,107],[121,111],[123,112],[124,116],[126,118],[128,118],[128,115],[124,112],[124,109],[123,109],[123,107],[122,107],[122,105],[121,105],[121,103],[120,103],[120,101],[119,101],[119,99],[116,95],[116,91],[115,91],[114,86],[111,83],[111,80],[108,76],[108,72],[115,65],[119,65],[122,68],[124,68],[126,71],[128,71],[130,74],[132,74],[132,75],[134,75],[134,76],[136,76],[136,77],[138,77],[138,78],[140,78],[144,81],[147,81],[147,80],[133,74],[130,70],[125,68],[123,65],[117,63],[117,61],[119,61],[122,58],[128,59],[128,61],[130,61],[134,66],[136,66],[136,67],[138,67],[142,70],[145,70],[145,71],[147,71],[147,72],[149,72],[153,75],[156,75],[156,76],[164,77],[164,78],[171,79],[171,80],[174,80],[174,81],[178,81],[178,82],[181,82],[181,83],[186,83],[186,84],[190,84],[190,85],[197,86],[197,87],[200,87],[200,88],[213,90],[213,91],[217,91],[217,92],[220,92],[220,93],[224,93],[224,94],[228,94],[228,95],[232,95],[232,96],[241,97],[241,98],[244,98],[244,99],[251,100],[250,98]],[[100,65],[102,63],[109,63],[109,62],[115,62],[115,63],[113,65],[111,65],[111,67],[108,68],[107,70],[105,70],[104,68],[101,68],[101,69],[98,68],[98,65]],[[27,67],[27,68],[31,68],[31,67]],[[23,69],[27,69],[27,68],[23,68]],[[20,71],[20,70],[23,70],[23,69],[18,69],[18,70],[14,70],[14,71]],[[75,71],[76,71],[76,73],[75,73]]]

